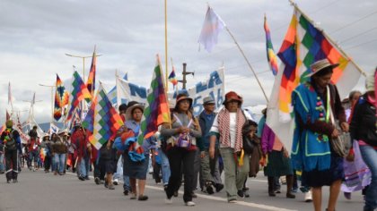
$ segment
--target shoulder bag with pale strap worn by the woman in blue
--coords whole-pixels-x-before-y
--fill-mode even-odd
[[[328,102],[329,102],[329,87],[328,90]],[[340,132],[340,135],[336,139],[329,139],[329,142],[331,144],[332,150],[341,157],[346,157],[348,155],[350,146],[351,146],[351,136],[349,132],[342,131],[342,129],[339,126],[338,120],[335,121],[334,114],[332,114],[332,109],[330,106],[329,108],[329,114],[331,118],[331,122],[333,122],[335,128]]]

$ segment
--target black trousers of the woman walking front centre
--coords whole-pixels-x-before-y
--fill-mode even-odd
[[[180,188],[181,171],[184,174],[184,194],[183,200],[185,202],[192,201],[192,189],[194,180],[194,160],[196,151],[189,151],[185,148],[171,148],[167,152],[169,164],[171,165],[171,178],[169,179],[168,188],[166,190],[167,198],[171,198],[174,191]]]

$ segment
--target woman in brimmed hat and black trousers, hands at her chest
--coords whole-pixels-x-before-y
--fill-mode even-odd
[[[171,166],[171,178],[166,188],[165,202],[171,204],[174,191],[180,188],[182,167],[185,180],[183,200],[189,207],[195,206],[192,201],[194,159],[197,150],[196,139],[202,135],[199,124],[190,111],[191,106],[192,98],[186,94],[179,94],[171,112],[171,128],[168,124],[164,124],[161,130],[162,137],[168,142],[167,156]]]

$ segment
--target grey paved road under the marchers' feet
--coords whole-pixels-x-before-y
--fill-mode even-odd
[[[156,185],[152,179],[147,181],[145,194],[147,201],[131,200],[122,193],[122,187],[116,190],[106,190],[103,185],[96,185],[93,180],[79,181],[74,174],[54,176],[42,171],[30,172],[23,169],[18,183],[7,184],[4,174],[0,175],[0,211],[8,210],[312,210],[311,203],[303,202],[303,194],[297,193],[297,198],[285,198],[285,191],[276,198],[267,197],[267,181],[260,175],[248,180],[250,198],[240,198],[237,204],[226,202],[224,190],[208,196],[197,190],[198,198],[194,201],[196,207],[185,207],[181,198],[173,198],[172,205],[165,205],[165,194],[162,185]],[[150,175],[148,175],[150,177]],[[282,187],[285,190],[285,186]],[[329,189],[324,189],[324,205],[327,204]],[[326,198],[326,199],[325,199]],[[351,200],[339,196],[337,210],[362,210],[363,197],[360,192],[353,194]]]

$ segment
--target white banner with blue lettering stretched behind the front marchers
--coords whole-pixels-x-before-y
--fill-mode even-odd
[[[198,115],[203,111],[203,98],[207,96],[212,96],[215,99],[216,107],[220,107],[224,101],[224,90],[224,67],[218,71],[211,72],[208,80],[199,82],[195,87],[188,89],[189,97],[193,99],[194,114]],[[127,101],[135,100],[145,104],[146,91],[147,89],[144,87],[117,77],[118,105],[120,105],[122,99],[127,99]],[[176,92],[171,91],[168,93],[169,100],[173,101],[174,104],[176,95]]]

